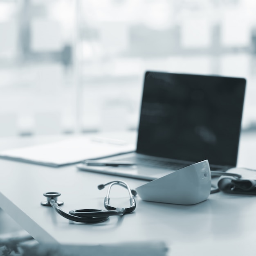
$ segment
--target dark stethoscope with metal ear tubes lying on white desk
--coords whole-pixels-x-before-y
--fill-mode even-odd
[[[110,195],[110,189],[113,185],[119,185],[123,186],[128,190],[129,197],[130,197],[130,207],[128,208],[118,208],[118,207],[112,207],[109,203],[109,195]],[[63,201],[58,201],[58,197],[61,195],[61,193],[58,192],[47,192],[43,195],[47,198],[46,201],[41,202],[41,205],[43,206],[52,206],[54,210],[63,216],[64,218],[67,218],[68,220],[73,220],[76,222],[83,222],[83,223],[96,223],[96,222],[103,222],[108,220],[109,216],[122,216],[126,213],[131,213],[136,208],[136,202],[133,196],[137,195],[137,192],[133,189],[130,189],[129,185],[126,182],[115,180],[112,182],[108,182],[106,184],[100,184],[98,186],[98,189],[104,189],[105,186],[109,185],[107,195],[104,199],[104,207],[107,209],[107,211],[104,210],[98,210],[98,209],[80,209],[80,210],[72,210],[69,211],[69,213],[66,213],[63,211],[59,206],[63,205]]]

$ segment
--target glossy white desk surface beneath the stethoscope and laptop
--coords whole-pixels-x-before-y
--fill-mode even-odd
[[[34,137],[5,138],[0,139],[0,149],[40,141]],[[255,149],[256,135],[242,135],[238,167],[256,168]],[[128,182],[132,188],[145,183],[78,171],[75,166],[51,168],[0,159],[0,207],[39,242],[98,245],[159,240],[174,256],[255,254],[254,196],[216,193],[191,206],[144,202],[137,197],[134,213],[112,216],[107,222],[93,225],[72,224],[51,207],[40,205],[45,200],[44,192],[58,191],[64,211],[103,209],[107,189],[99,191],[97,185],[116,179]],[[110,203],[122,207],[127,198],[124,189],[114,187]]]

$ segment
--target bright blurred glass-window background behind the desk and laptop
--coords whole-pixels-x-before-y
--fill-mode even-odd
[[[254,0],[0,0],[0,136],[136,130],[145,70],[247,79]]]

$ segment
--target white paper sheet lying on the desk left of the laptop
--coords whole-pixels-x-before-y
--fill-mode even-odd
[[[62,166],[135,150],[134,144],[125,141],[100,137],[74,137],[62,141],[4,150],[0,157],[5,159],[42,164],[47,166]]]

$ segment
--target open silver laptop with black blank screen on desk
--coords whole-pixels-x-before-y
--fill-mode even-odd
[[[101,161],[134,166],[77,167],[154,180],[208,159],[212,171],[236,167],[246,80],[147,71],[135,152]]]

